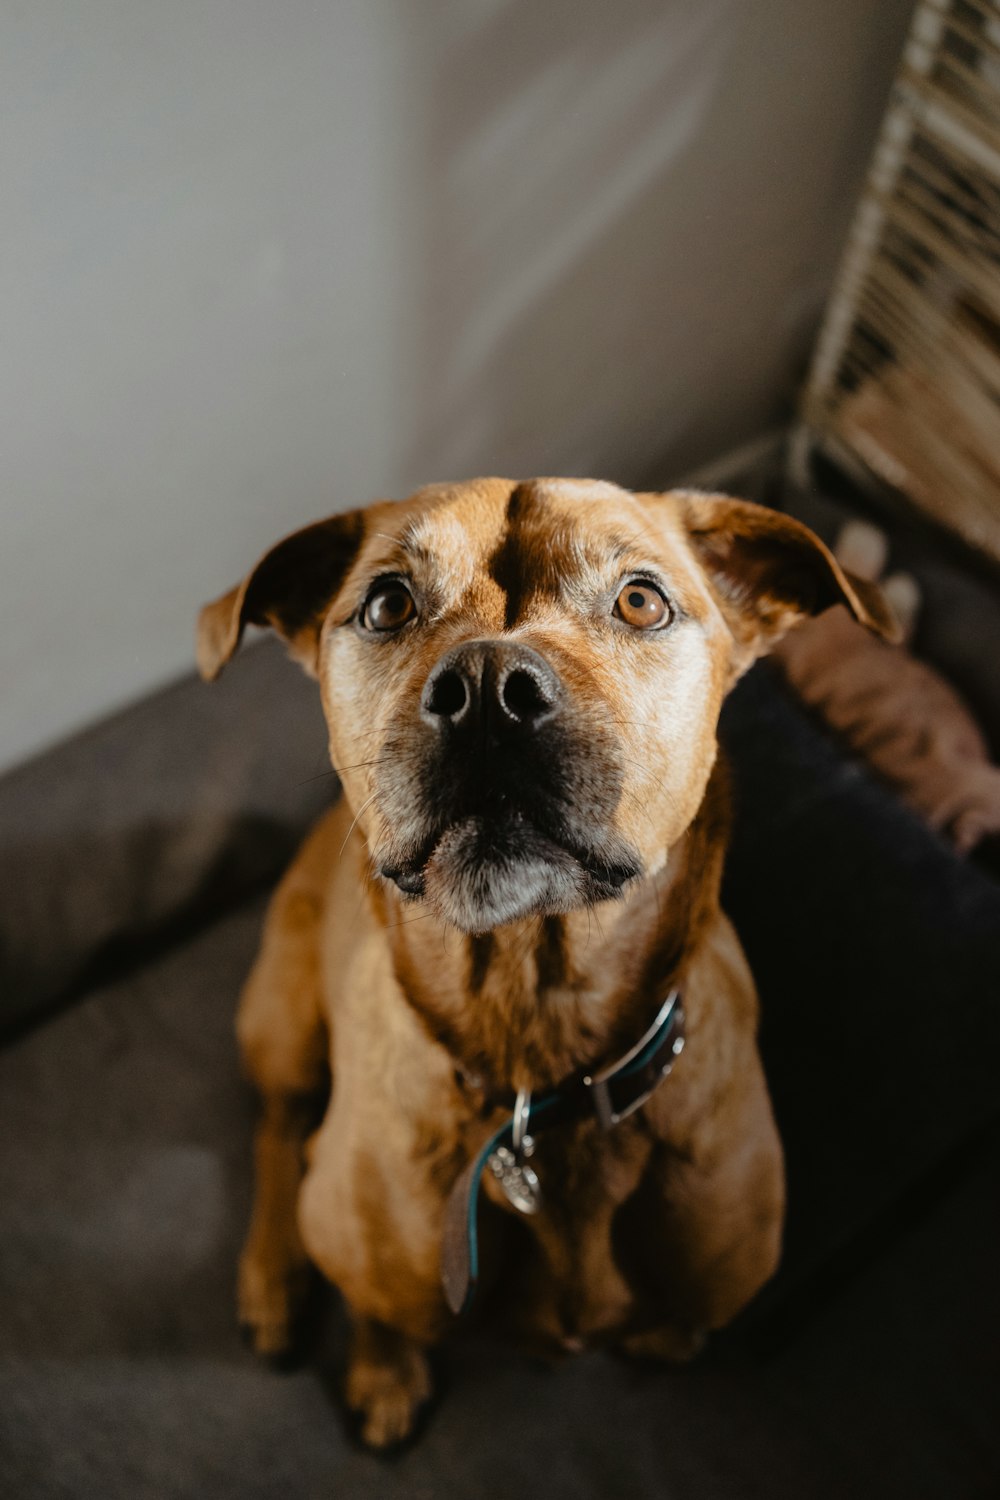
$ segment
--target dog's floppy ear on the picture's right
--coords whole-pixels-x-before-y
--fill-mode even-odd
[[[855,620],[886,640],[903,638],[882,590],[847,573],[801,520],[729,495],[679,490],[673,498],[744,648],[739,666],[750,666],[792,626],[832,604],[846,604]]]

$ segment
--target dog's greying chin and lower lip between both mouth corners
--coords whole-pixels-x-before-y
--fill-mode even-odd
[[[483,933],[615,900],[639,873],[639,860],[619,840],[574,852],[520,819],[495,825],[466,818],[441,836],[420,873],[393,872],[393,879],[423,896],[442,921]]]

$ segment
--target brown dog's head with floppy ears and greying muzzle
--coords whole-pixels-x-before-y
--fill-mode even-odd
[[[703,798],[727,688],[790,626],[882,598],[787,516],[718,495],[478,480],[273,548],[199,618],[216,676],[247,622],[318,676],[373,868],[484,932],[609,900]]]

